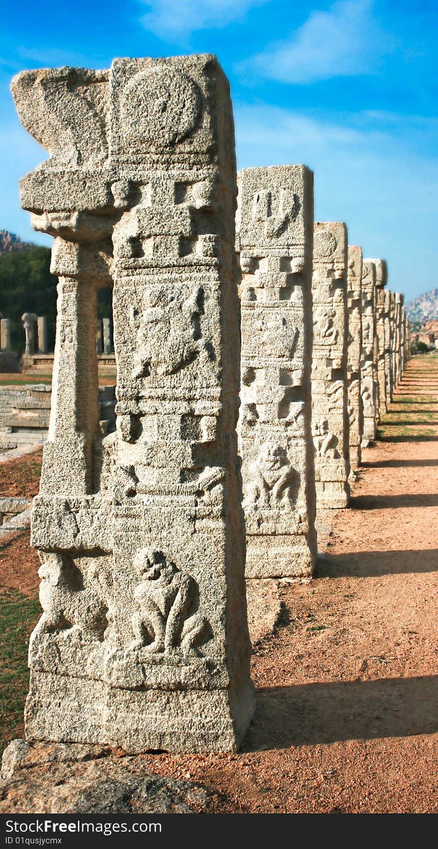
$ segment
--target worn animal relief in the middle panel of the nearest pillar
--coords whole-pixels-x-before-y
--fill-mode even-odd
[[[175,374],[199,355],[208,359],[199,318],[204,290],[199,286],[185,300],[168,290],[149,292],[149,305],[138,327],[138,354],[133,376]]]

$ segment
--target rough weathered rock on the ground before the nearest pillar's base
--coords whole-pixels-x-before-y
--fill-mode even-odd
[[[1,813],[209,813],[214,801],[200,784],[98,746],[15,739],[3,752]]]

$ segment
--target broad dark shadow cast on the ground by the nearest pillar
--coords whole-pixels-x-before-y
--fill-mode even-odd
[[[261,689],[244,751],[438,731],[438,676]]]

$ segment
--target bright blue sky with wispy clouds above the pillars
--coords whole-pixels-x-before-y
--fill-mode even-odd
[[[50,244],[18,180],[44,153],[8,92],[26,68],[216,53],[232,87],[238,166],[303,162],[315,217],[389,262],[407,300],[438,286],[436,0],[76,0],[3,5],[0,228]]]

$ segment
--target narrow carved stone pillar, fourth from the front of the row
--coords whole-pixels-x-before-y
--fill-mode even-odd
[[[361,464],[363,434],[361,396],[362,250],[357,245],[348,245],[347,304],[347,392],[350,427],[350,464],[351,469],[355,470]]]

